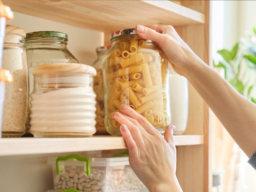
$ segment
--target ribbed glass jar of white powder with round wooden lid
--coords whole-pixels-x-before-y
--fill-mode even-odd
[[[34,137],[88,137],[96,132],[96,70],[78,63],[34,68],[30,132]]]

